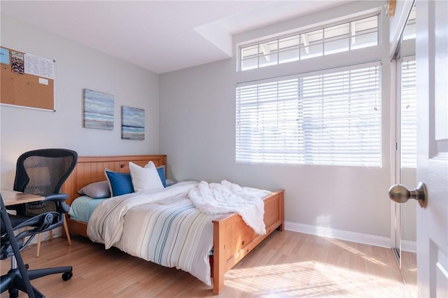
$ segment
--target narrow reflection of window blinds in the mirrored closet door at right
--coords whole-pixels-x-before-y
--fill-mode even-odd
[[[416,167],[416,64],[415,57],[401,60],[401,167]]]

